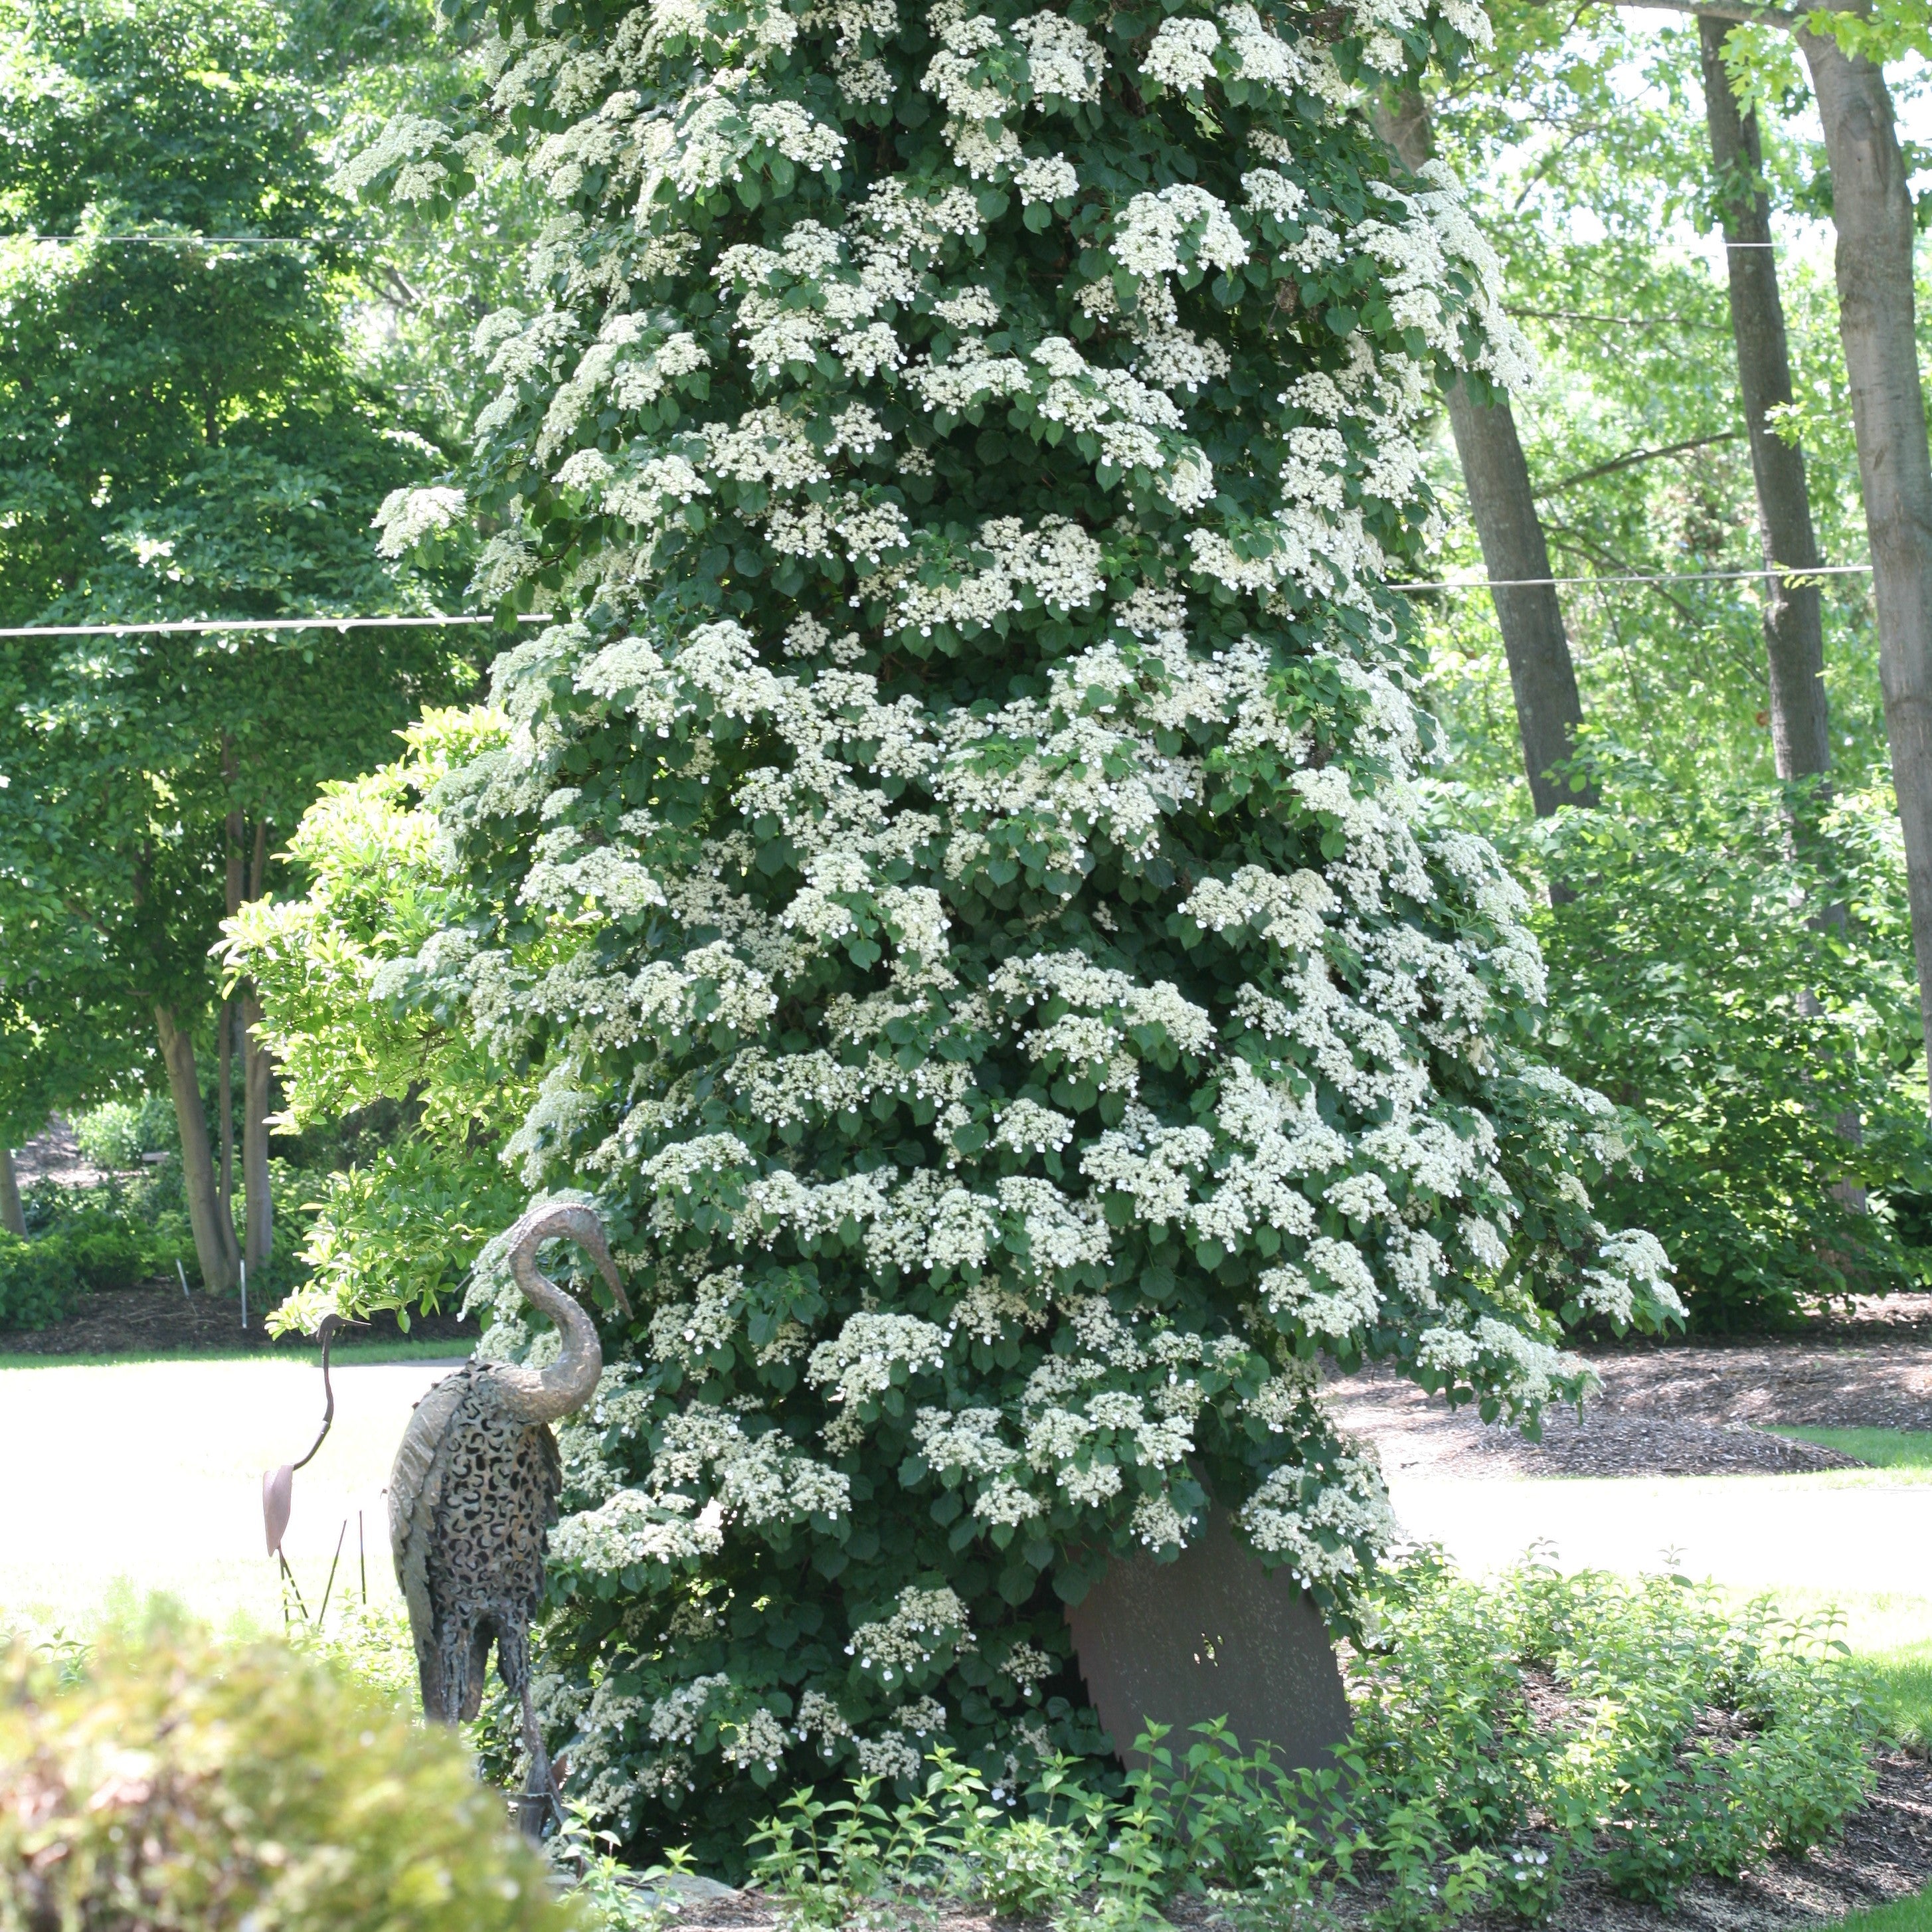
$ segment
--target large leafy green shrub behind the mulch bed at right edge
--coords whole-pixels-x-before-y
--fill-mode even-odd
[[[1922,1279],[1932,1186],[1889,798],[1675,784],[1613,750],[1604,810],[1524,852],[1557,1065],[1654,1134],[1600,1209],[1652,1229],[1700,1329]],[[1797,815],[1797,833],[1793,817]]]

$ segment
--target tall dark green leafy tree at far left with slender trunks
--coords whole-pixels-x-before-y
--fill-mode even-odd
[[[0,197],[0,591],[50,624],[398,609],[373,512],[437,452],[355,377],[315,100],[272,8],[12,4]],[[207,240],[243,238],[243,240]],[[257,245],[259,243],[259,245]],[[396,641],[400,636],[400,641]],[[0,867],[50,881],[155,1028],[211,1287],[242,1248],[197,1074],[234,860],[373,763],[446,684],[435,634],[29,638],[0,647]],[[68,989],[37,981],[43,1030]],[[46,1005],[35,1005],[44,995]],[[247,991],[243,989],[243,1010]],[[68,1001],[71,1005],[71,1001]],[[269,1252],[267,1065],[249,1051],[247,1254]]]

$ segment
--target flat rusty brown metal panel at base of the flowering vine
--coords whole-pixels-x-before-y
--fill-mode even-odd
[[[1244,1750],[1271,1745],[1285,1768],[1331,1766],[1349,1698],[1321,1613],[1287,1569],[1267,1571],[1223,1511],[1173,1563],[1113,1561],[1066,1623],[1080,1675],[1122,1764],[1148,1721],[1227,1718]]]

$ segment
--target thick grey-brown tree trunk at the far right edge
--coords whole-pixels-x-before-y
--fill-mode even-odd
[[[1830,35],[1799,33],[1832,162],[1837,328],[1851,377],[1878,680],[1905,831],[1920,1026],[1932,1012],[1932,452],[1913,303],[1913,201],[1886,77]],[[1932,1037],[1926,1041],[1932,1084]]]

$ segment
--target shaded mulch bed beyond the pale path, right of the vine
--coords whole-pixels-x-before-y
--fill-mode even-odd
[[[1391,1476],[1729,1476],[1847,1468],[1770,1428],[1932,1430],[1932,1296],[1861,1304],[1803,1335],[1592,1352],[1602,1389],[1542,1443],[1449,1410],[1387,1370],[1329,1385]]]

